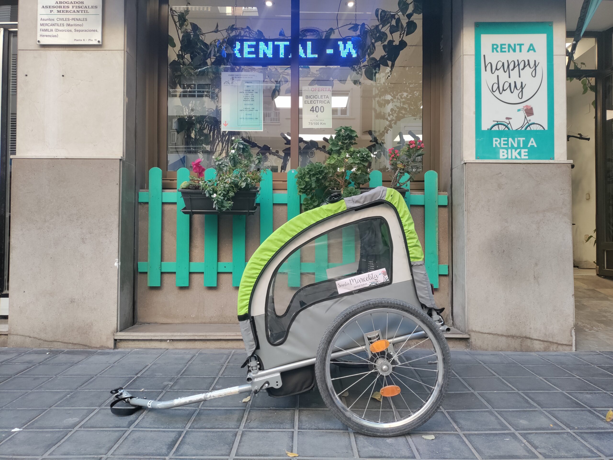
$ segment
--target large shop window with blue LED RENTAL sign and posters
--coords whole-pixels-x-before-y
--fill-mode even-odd
[[[358,132],[375,169],[385,171],[387,149],[411,139],[425,141],[429,162],[421,2],[256,3],[170,0],[159,160],[168,177],[197,159],[211,167],[232,137],[248,141],[273,173],[324,162],[340,126]]]

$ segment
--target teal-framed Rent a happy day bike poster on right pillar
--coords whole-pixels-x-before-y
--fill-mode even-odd
[[[475,158],[553,160],[552,23],[475,23]]]

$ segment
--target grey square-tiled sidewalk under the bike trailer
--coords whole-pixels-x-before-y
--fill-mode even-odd
[[[613,458],[613,352],[452,352],[443,409],[390,439],[349,431],[316,391],[131,417],[108,409],[117,386],[171,399],[240,385],[243,360],[230,350],[0,349],[0,458]]]

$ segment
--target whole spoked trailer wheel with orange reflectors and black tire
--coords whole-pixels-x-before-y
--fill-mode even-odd
[[[348,366],[347,356],[362,365]],[[330,324],[319,343],[315,375],[338,420],[363,434],[397,436],[438,410],[451,357],[443,333],[421,308],[373,299],[349,307]]]

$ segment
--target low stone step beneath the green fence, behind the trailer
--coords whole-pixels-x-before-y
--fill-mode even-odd
[[[451,328],[445,334],[453,349],[468,348],[470,336]],[[137,324],[115,333],[116,348],[242,349],[237,324]]]

